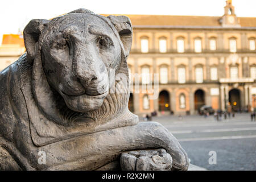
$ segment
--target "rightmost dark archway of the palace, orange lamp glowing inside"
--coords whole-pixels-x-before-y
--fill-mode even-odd
[[[229,104],[232,107],[232,111],[239,111],[241,109],[241,93],[238,89],[232,89],[229,91]]]

